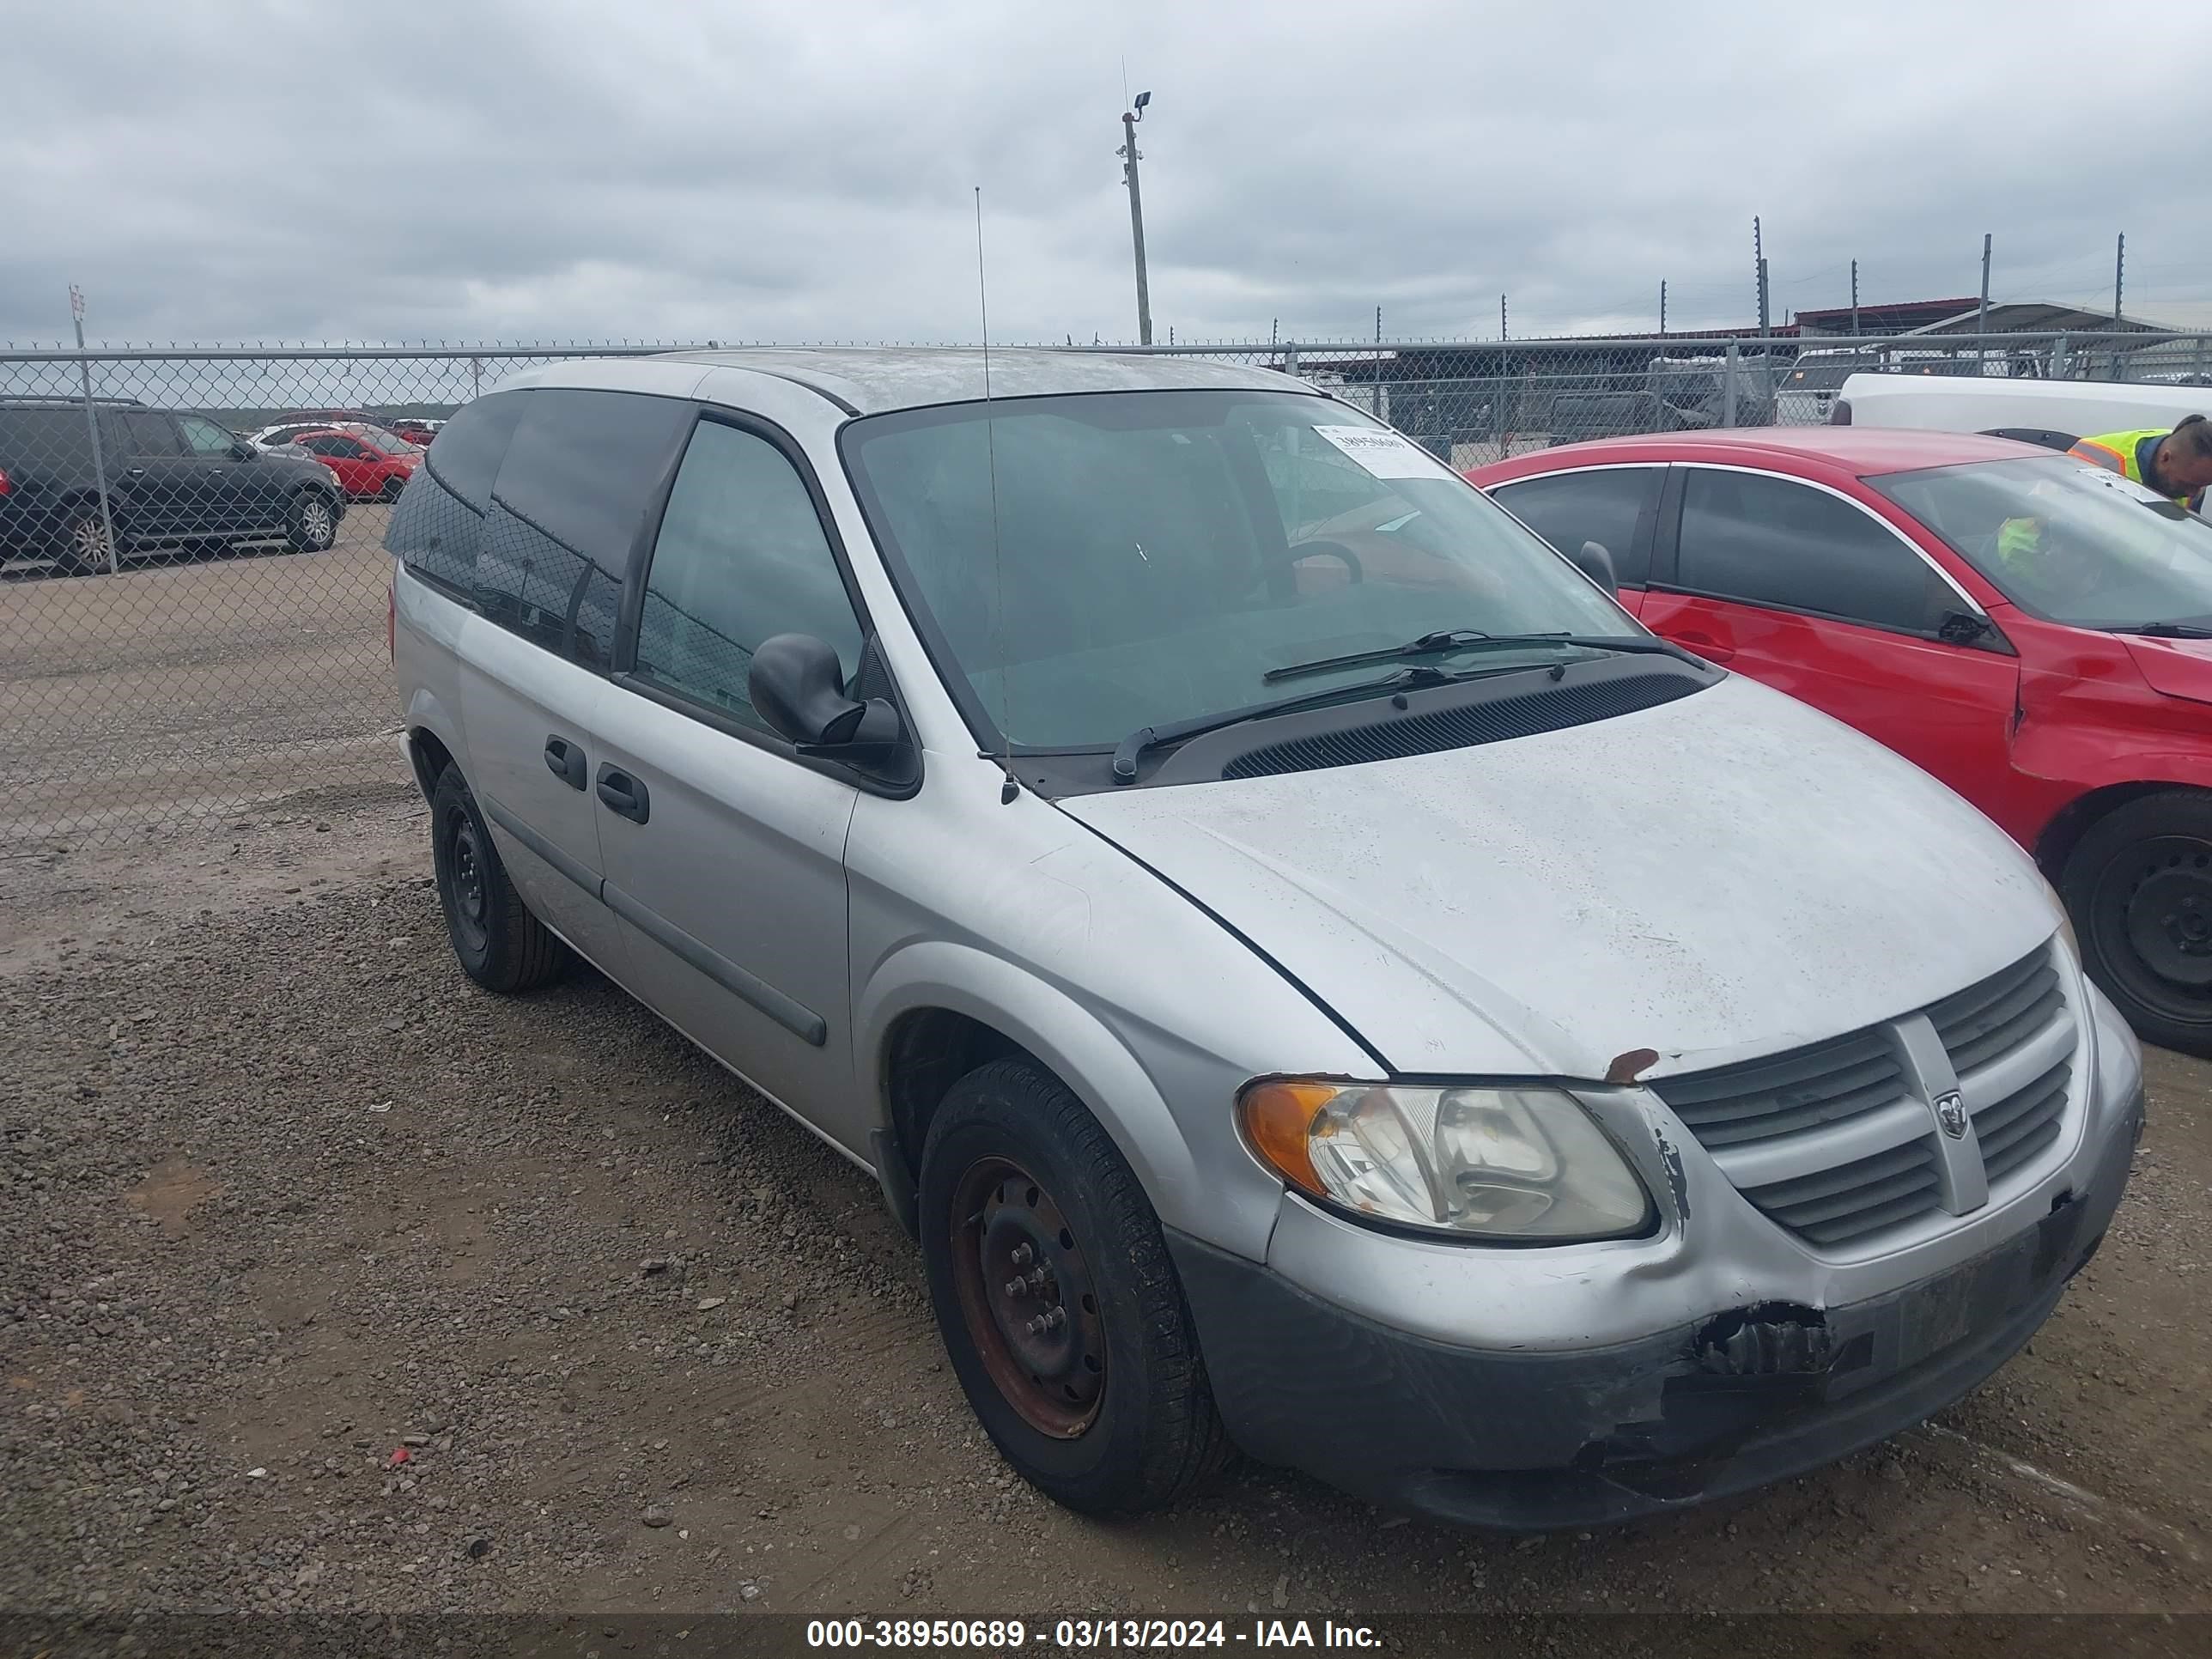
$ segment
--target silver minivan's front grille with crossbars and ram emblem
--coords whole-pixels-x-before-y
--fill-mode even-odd
[[[1975,1150],[1991,1188],[2033,1177],[2066,1124],[2075,1046],[2046,947],[1916,1013],[1655,1091],[1763,1214],[1838,1248],[1931,1225],[1947,1186],[1971,1208]],[[1971,1144],[1938,1128],[1951,1088]]]

